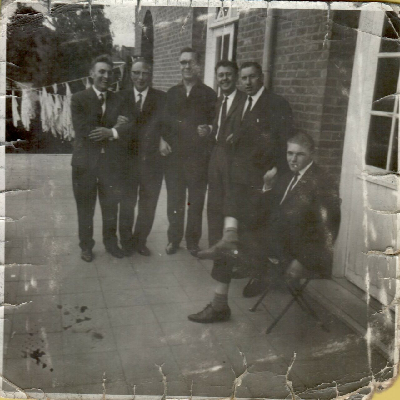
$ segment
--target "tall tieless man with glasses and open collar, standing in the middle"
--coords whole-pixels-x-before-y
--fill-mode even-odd
[[[165,142],[160,147],[165,156],[168,193],[166,252],[177,252],[183,239],[188,190],[185,239],[187,249],[195,256],[199,251],[211,150],[207,126],[214,120],[217,95],[199,80],[199,55],[195,50],[181,50],[179,63],[183,81],[167,92]]]

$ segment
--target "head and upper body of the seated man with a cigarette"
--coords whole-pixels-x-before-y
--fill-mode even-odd
[[[287,266],[289,278],[306,272],[329,278],[340,226],[340,199],[332,179],[314,162],[314,140],[299,133],[287,143],[290,171],[265,174],[263,191],[270,211],[265,249]],[[276,262],[275,261],[275,262]]]

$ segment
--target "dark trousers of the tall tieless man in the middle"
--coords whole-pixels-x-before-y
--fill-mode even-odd
[[[171,156],[168,156],[171,157]],[[201,225],[205,192],[207,190],[208,158],[193,154],[183,160],[179,154],[165,163],[165,184],[167,186],[167,215],[169,220],[168,241],[180,243],[185,225],[186,191],[187,223],[185,239],[188,247],[198,246],[201,238]]]

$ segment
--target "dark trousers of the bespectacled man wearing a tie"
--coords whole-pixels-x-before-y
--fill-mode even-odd
[[[119,209],[119,234],[121,246],[144,246],[153,227],[155,210],[163,182],[160,160],[131,162],[123,176]],[[139,196],[139,202],[138,202]],[[135,207],[138,215],[135,232]]]

